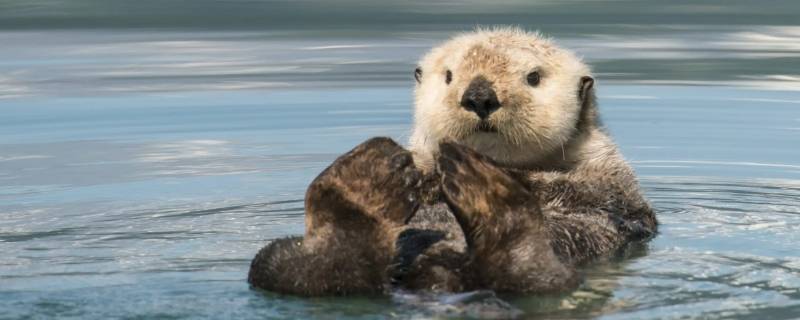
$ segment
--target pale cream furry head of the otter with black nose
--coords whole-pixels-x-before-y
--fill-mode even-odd
[[[594,124],[594,80],[573,53],[537,33],[478,30],[425,55],[414,71],[410,148],[430,169],[440,142],[537,166]]]

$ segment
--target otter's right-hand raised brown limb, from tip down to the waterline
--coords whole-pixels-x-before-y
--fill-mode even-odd
[[[560,292],[577,286],[553,252],[536,197],[490,159],[466,147],[440,147],[442,192],[467,240],[469,269],[481,287]]]

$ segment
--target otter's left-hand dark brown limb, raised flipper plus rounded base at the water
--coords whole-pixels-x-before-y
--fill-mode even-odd
[[[394,141],[359,145],[309,186],[305,237],[261,249],[248,281],[304,296],[385,292],[394,239],[417,209],[420,179],[411,154]]]

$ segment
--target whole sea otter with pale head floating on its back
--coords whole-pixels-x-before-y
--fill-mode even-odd
[[[589,68],[538,33],[477,30],[415,69],[409,150],[373,138],[308,188],[304,237],[253,259],[257,288],[553,293],[576,267],[656,232],[602,130]]]

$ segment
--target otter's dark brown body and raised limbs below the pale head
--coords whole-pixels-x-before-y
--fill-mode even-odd
[[[248,280],[304,296],[392,286],[559,292],[577,286],[576,265],[655,232],[644,199],[620,190],[626,183],[536,173],[445,143],[436,172],[422,177],[408,151],[371,139],[312,182],[305,238],[267,245]]]

